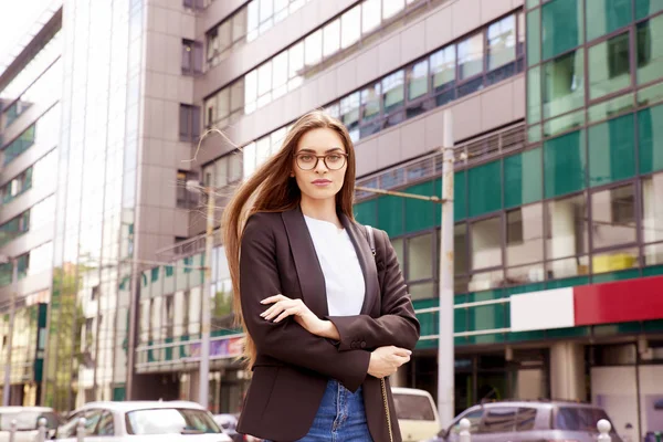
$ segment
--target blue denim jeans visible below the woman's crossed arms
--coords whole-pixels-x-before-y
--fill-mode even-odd
[[[372,442],[361,387],[352,393],[329,380],[308,434],[297,442]]]

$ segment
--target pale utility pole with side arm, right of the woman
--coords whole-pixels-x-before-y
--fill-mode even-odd
[[[442,113],[444,135],[442,140],[442,198],[398,192],[393,190],[356,187],[356,190],[392,197],[411,198],[442,203],[442,225],[440,229],[440,307],[438,311],[438,411],[442,428],[454,418],[454,343],[453,343],[453,172],[454,144],[451,110]]]

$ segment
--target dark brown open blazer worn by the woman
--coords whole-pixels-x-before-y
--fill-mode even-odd
[[[375,231],[376,265],[365,229],[339,217],[366,282],[361,314],[347,317],[329,317],[325,278],[299,208],[255,213],[246,222],[240,249],[240,290],[257,359],[238,423],[240,433],[280,442],[303,438],[313,424],[327,380],[336,379],[350,391],[364,387],[370,434],[376,442],[389,442],[380,380],[367,375],[370,351],[388,345],[413,349],[419,322],[387,233]],[[334,322],[340,341],[312,335],[292,318],[277,324],[263,319],[260,314],[267,306],[260,301],[280,293],[302,298],[318,317]],[[399,442],[389,385],[387,390],[393,440]]]

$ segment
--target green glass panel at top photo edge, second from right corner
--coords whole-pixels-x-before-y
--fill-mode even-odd
[[[632,0],[586,0],[587,40],[617,31],[633,21]]]

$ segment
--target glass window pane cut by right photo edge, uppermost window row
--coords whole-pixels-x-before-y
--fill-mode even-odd
[[[663,15],[638,24],[636,60],[638,84],[663,77]]]

